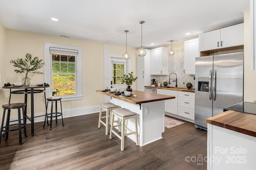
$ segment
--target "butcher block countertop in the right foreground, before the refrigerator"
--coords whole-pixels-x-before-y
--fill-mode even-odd
[[[239,111],[225,111],[206,119],[206,123],[256,137],[256,115]]]

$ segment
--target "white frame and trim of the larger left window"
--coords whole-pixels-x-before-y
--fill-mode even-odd
[[[82,100],[82,47],[44,42],[44,82],[50,83],[50,85],[52,84],[52,54],[50,53],[50,47],[72,49],[78,51],[78,55],[76,56],[76,94],[64,95],[61,97],[63,101]],[[45,92],[46,97],[52,97],[52,87],[46,88]]]

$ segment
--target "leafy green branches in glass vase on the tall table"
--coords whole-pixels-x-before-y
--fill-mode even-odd
[[[25,59],[16,59],[11,60],[10,63],[17,67],[18,69],[15,69],[14,72],[16,73],[25,73],[25,77],[22,78],[22,85],[23,86],[29,86],[31,79],[28,77],[28,73],[36,73],[36,74],[44,74],[44,72],[36,71],[39,68],[42,68],[44,66],[44,62],[42,59],[38,59],[38,57],[32,57],[32,54],[26,53]]]

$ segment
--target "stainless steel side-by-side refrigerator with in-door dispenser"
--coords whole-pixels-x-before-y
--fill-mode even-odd
[[[207,118],[242,102],[243,96],[243,52],[196,58],[195,127],[206,129]]]

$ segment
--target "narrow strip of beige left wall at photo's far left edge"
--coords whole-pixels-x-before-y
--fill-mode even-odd
[[[0,87],[6,83],[6,28],[0,22]],[[6,104],[6,90],[0,88],[0,106]],[[2,109],[0,111],[2,122]]]

